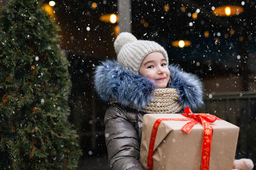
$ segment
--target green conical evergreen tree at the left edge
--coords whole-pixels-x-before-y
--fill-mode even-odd
[[[41,0],[10,0],[0,18],[0,169],[75,169],[68,60]]]

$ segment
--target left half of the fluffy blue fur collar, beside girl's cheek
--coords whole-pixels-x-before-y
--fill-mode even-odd
[[[118,62],[106,60],[97,66],[94,76],[95,90],[106,102],[115,99],[122,106],[145,108],[151,100],[154,84],[148,78],[133,74]]]

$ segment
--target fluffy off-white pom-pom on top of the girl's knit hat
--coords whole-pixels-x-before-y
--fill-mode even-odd
[[[122,32],[119,34],[115,40],[114,46],[115,46],[115,51],[118,54],[122,48],[127,43],[131,43],[132,41],[136,41],[137,38],[132,35],[129,32]]]

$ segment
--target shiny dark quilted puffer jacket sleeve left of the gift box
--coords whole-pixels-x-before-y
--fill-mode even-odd
[[[109,166],[113,170],[143,169],[138,132],[125,112],[117,106],[111,106],[105,114]]]

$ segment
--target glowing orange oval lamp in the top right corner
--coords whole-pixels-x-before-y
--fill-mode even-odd
[[[227,17],[232,15],[239,15],[244,11],[244,8],[236,5],[219,6],[215,8],[212,13],[221,17]]]

